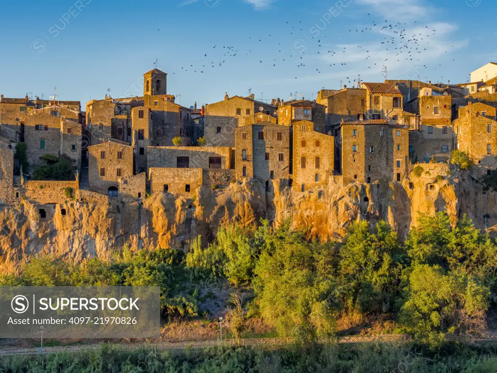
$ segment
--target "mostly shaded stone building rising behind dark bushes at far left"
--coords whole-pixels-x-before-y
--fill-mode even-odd
[[[81,165],[81,141],[83,127],[80,123],[58,116],[58,112],[34,113],[24,119],[24,142],[27,145],[30,173],[36,167],[44,166],[40,157],[50,154],[55,157],[68,157],[73,167],[79,170]],[[28,170],[23,170],[28,173]]]

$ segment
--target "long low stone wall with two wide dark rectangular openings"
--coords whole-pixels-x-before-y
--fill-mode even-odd
[[[190,168],[208,169],[210,158],[221,157],[221,168],[229,169],[232,164],[232,149],[215,146],[151,146],[147,149],[149,168],[175,168],[177,157],[188,157]]]

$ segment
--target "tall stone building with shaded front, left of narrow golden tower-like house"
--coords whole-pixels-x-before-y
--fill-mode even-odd
[[[235,129],[236,178],[255,178],[288,183],[290,174],[290,127],[269,122]]]

